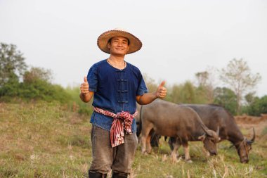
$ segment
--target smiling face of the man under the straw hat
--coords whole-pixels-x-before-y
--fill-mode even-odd
[[[110,54],[125,55],[129,51],[128,39],[124,37],[113,37],[108,43]]]

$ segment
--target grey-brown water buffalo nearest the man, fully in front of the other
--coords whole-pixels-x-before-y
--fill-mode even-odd
[[[178,138],[179,143],[183,145],[185,160],[188,162],[191,162],[188,146],[190,140],[201,139],[208,151],[217,153],[216,143],[220,140],[219,129],[218,132],[208,129],[192,108],[157,99],[140,108],[139,119],[142,132],[142,153],[150,153],[151,151],[150,137],[152,132]],[[176,159],[176,151],[172,151],[171,156]]]

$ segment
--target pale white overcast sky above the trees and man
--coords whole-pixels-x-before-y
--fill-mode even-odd
[[[193,81],[243,58],[262,77],[256,95],[267,94],[266,0],[0,0],[0,42],[15,44],[27,65],[51,69],[63,87],[108,58],[96,39],[115,27],[141,39],[126,61],[157,82]]]

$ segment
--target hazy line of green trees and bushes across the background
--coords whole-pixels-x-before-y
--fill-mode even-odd
[[[267,96],[259,98],[254,87],[261,80],[259,73],[252,74],[243,59],[233,59],[226,68],[217,70],[223,87],[216,87],[214,73],[205,70],[195,74],[196,82],[186,81],[167,86],[166,100],[173,103],[217,104],[233,115],[267,113]],[[150,91],[157,82],[145,77]],[[79,113],[91,114],[88,104],[79,100],[79,87],[52,84],[52,72],[44,68],[29,68],[22,53],[13,44],[0,44],[0,101],[58,101],[67,103]]]

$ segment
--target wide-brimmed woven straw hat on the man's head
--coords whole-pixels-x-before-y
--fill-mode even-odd
[[[142,47],[140,39],[122,28],[115,28],[114,30],[109,30],[100,34],[98,37],[98,47],[105,53],[110,53],[110,49],[108,49],[108,41],[113,37],[124,37],[129,40],[129,51],[127,54],[134,53]]]

